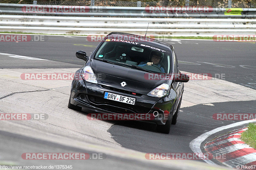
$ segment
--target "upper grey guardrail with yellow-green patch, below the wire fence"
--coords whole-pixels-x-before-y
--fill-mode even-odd
[[[149,18],[256,18],[256,8],[211,8],[210,12],[148,12],[148,7],[86,6],[86,12],[24,12],[22,7],[35,6],[52,8],[52,5],[0,4],[2,14],[54,15],[54,16],[95,16],[95,17],[149,17]],[[54,6],[54,5],[53,5]],[[56,6],[56,5],[55,5]],[[58,5],[58,7],[65,7]],[[79,6],[81,7],[81,6]],[[82,6],[83,7],[83,6]],[[230,9],[229,9],[230,10]]]

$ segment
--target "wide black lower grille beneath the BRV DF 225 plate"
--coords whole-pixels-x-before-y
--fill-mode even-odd
[[[108,108],[112,108],[113,112],[120,112],[120,113],[148,113],[151,109],[147,107],[142,107],[142,106],[136,106],[136,105],[129,105],[126,103],[121,103],[118,101],[113,101],[113,100],[108,100],[104,99],[103,97],[97,97],[97,96],[92,96],[92,95],[87,95],[88,99],[90,102],[94,104],[106,104],[109,106],[104,106]],[[116,107],[113,107],[116,106]],[[122,107],[122,108],[117,108],[117,107]]]

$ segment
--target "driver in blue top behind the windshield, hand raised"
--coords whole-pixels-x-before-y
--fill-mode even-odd
[[[162,57],[163,57],[163,55],[162,55],[161,52],[152,51],[151,54],[150,54],[150,57],[149,57],[150,62],[149,62],[149,60],[147,60],[146,62],[141,62],[138,66],[144,67],[145,65],[154,64],[157,67],[159,67],[162,72],[164,72],[164,68],[161,67],[161,65],[159,63],[161,61]]]

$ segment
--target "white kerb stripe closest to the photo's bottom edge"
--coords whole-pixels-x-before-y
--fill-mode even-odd
[[[238,157],[236,159],[231,159],[228,161],[223,162],[224,165],[229,166],[229,167],[233,167],[234,165],[245,165],[251,162],[256,161],[256,153],[250,153],[248,155],[244,155],[241,157]],[[231,166],[233,165],[233,166]]]

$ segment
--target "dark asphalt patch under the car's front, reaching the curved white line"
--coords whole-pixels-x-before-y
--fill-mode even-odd
[[[170,134],[156,132],[155,125],[144,122],[119,122],[109,129],[113,138],[123,147],[147,153],[191,153],[189,143],[201,134],[239,121],[214,120],[215,113],[256,113],[256,101],[212,103],[214,106],[196,105],[180,110],[176,125],[171,126]],[[244,126],[241,126],[244,127]],[[236,129],[238,129],[237,127]],[[227,129],[226,132],[234,129]],[[206,141],[222,135],[215,133]],[[204,148],[203,143],[201,148]],[[199,161],[203,161],[202,159]],[[212,159],[215,164],[221,165]]]

